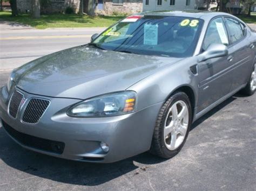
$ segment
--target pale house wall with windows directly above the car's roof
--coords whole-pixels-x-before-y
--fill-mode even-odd
[[[190,6],[186,6],[186,0],[176,0],[175,5],[170,5],[170,0],[162,0],[162,5],[157,5],[156,0],[143,0],[143,11],[167,11],[167,10],[193,10],[196,7],[196,0],[190,0]]]

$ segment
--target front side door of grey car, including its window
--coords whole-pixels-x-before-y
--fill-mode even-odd
[[[229,44],[227,30],[221,17],[214,18],[208,24],[201,52],[203,53],[208,46],[216,43],[226,46]],[[233,47],[229,47],[227,56],[208,59],[198,65],[199,112],[230,92],[232,77],[228,74],[233,53]]]

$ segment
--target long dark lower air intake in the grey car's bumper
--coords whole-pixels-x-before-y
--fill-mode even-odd
[[[3,128],[9,133],[12,138],[16,139],[19,143],[25,146],[56,154],[62,154],[64,151],[65,143],[63,142],[57,142],[55,140],[26,135],[25,133],[16,131],[10,125],[6,124],[3,120],[2,124]]]

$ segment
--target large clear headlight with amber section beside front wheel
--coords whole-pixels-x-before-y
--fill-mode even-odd
[[[73,105],[66,114],[71,117],[108,117],[135,111],[136,93],[122,91],[85,100]]]

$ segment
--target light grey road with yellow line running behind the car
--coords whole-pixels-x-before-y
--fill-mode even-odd
[[[11,70],[43,55],[89,43],[104,28],[1,30],[0,71]]]

